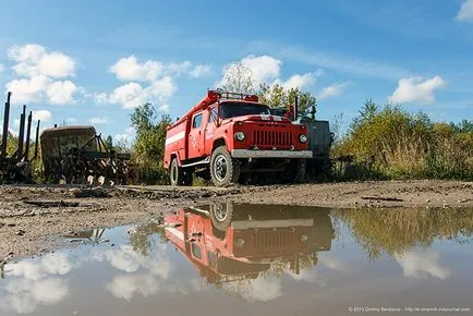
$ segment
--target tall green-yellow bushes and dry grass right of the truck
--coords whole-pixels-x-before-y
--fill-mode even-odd
[[[425,113],[368,100],[333,155],[352,155],[390,179],[473,180],[473,127],[468,121],[434,123]]]

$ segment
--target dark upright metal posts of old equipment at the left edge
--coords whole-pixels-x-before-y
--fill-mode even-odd
[[[23,112],[20,116],[17,148],[16,151],[9,156],[8,142],[11,135],[9,132],[11,96],[12,93],[9,92],[4,107],[3,129],[1,134],[2,142],[0,146],[0,183],[29,182],[31,161],[38,157],[38,134],[40,121],[38,120],[36,126],[35,154],[33,158],[29,158],[33,112],[29,112],[29,114],[26,117],[26,106],[23,106]]]

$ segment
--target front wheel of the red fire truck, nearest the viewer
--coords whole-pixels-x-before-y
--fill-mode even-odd
[[[238,183],[240,160],[232,158],[226,146],[217,147],[211,153],[210,177],[215,186],[229,186]]]

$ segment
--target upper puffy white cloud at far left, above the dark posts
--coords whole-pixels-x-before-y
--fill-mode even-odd
[[[22,76],[61,78],[73,76],[75,72],[75,61],[71,57],[59,51],[48,52],[40,45],[13,46],[9,49],[8,57],[17,62],[13,70]]]

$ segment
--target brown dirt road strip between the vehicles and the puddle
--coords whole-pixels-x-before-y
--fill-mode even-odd
[[[363,182],[248,187],[0,186],[0,262],[63,245],[57,238],[85,228],[159,220],[180,207],[221,200],[319,207],[468,207],[473,183]]]

